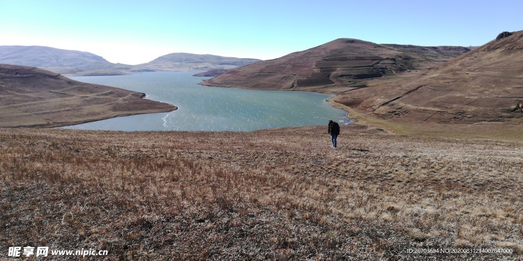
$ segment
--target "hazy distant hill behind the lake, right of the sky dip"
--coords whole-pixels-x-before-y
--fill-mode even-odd
[[[138,66],[153,70],[211,70],[231,69],[255,63],[260,60],[252,58],[224,57],[211,54],[170,53]]]

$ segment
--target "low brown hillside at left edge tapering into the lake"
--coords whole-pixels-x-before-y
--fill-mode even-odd
[[[0,127],[56,127],[177,109],[144,96],[36,67],[0,64]]]

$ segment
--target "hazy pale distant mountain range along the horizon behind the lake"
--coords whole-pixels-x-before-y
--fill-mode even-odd
[[[47,46],[0,46],[0,64],[33,66],[68,75],[122,75],[156,70],[231,69],[257,61],[260,60],[210,54],[171,53],[149,63],[127,65],[110,63],[103,57],[89,52]]]

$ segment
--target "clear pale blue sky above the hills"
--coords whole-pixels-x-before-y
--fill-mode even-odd
[[[268,60],[337,38],[478,46],[523,30],[523,0],[4,0],[0,45],[140,64],[186,52]]]

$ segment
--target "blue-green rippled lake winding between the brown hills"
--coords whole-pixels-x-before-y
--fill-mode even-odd
[[[73,80],[145,93],[146,99],[174,104],[168,113],[139,114],[61,128],[110,131],[254,131],[256,129],[348,124],[329,94],[261,91],[198,85],[198,72],[151,72],[124,76],[76,76]]]

